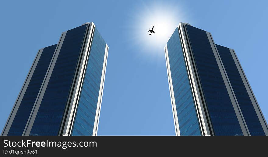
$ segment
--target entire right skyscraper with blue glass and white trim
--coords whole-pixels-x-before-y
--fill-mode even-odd
[[[268,135],[233,49],[181,22],[164,50],[176,135]]]

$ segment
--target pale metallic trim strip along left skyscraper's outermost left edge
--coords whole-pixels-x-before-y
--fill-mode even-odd
[[[19,95],[18,95],[18,97],[17,97],[17,99],[15,101],[15,104],[13,105],[13,108],[12,108],[10,114],[9,114],[9,117],[8,117],[6,123],[5,123],[5,126],[3,128],[1,136],[6,136],[8,134],[8,132],[9,132],[9,129],[10,129],[11,125],[12,125],[12,122],[13,122],[16,114],[17,114],[18,109],[19,109],[19,105],[20,105],[20,103],[21,103],[21,101],[23,99],[23,96],[24,96],[24,94],[26,92],[26,89],[28,88],[30,80],[31,80],[31,78],[33,76],[33,72],[34,72],[34,70],[35,70],[35,68],[37,66],[37,63],[39,62],[39,59],[40,59],[42,53],[43,53],[43,50],[44,50],[44,48],[39,49],[38,53],[36,54],[36,56],[35,56],[35,58],[33,60],[32,66],[31,66],[31,68],[30,68],[30,70],[29,70],[29,72],[27,74],[26,79],[24,80],[23,86],[22,86],[22,88],[21,88],[21,90],[19,92]]]

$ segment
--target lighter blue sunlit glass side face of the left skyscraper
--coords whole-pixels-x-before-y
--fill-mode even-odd
[[[99,97],[106,43],[97,29],[86,66],[72,135],[92,135]]]

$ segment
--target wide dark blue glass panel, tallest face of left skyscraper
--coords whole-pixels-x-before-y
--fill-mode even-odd
[[[30,135],[58,135],[86,26],[67,31]]]

